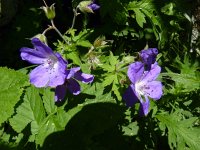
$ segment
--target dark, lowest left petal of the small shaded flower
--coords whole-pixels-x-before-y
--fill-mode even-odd
[[[66,85],[58,85],[55,90],[55,101],[61,101],[65,98],[67,91]]]

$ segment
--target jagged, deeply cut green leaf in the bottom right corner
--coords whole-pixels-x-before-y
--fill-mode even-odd
[[[180,112],[176,111],[171,114],[158,114],[156,118],[160,121],[159,125],[164,134],[166,132],[165,128],[167,128],[168,142],[171,149],[199,149],[200,130],[199,127],[193,127],[197,117],[182,119]]]

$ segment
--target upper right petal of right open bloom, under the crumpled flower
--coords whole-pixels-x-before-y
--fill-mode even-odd
[[[155,62],[154,64],[151,65],[151,70],[150,71],[145,71],[144,75],[142,77],[142,80],[144,82],[150,82],[155,80],[158,75],[160,74],[161,67],[158,66],[158,63]]]

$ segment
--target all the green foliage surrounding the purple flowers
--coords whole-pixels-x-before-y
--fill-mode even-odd
[[[32,67],[19,71],[0,67],[0,149],[198,150],[199,49],[190,49],[192,28],[199,28],[192,20],[198,18],[190,16],[192,7],[179,0],[97,0],[100,9],[86,14],[77,8],[80,2],[56,0],[55,24],[49,21],[46,29],[39,24],[42,20],[30,23],[40,29],[33,35],[54,41],[48,44],[68,61],[67,69],[80,66],[83,73],[94,75],[94,81],[78,81],[79,95],[67,90],[65,98],[55,102],[55,88],[36,88],[28,82],[26,74]],[[36,8],[26,9],[39,16]],[[26,15],[26,22],[32,17]],[[57,24],[62,25],[61,31]],[[20,32],[24,25],[13,28]],[[54,29],[59,40],[46,34]],[[130,84],[129,64],[141,60],[141,49],[153,47],[159,49],[156,61],[162,68],[164,95],[151,101],[149,114],[141,117],[140,103],[127,108],[122,95]],[[9,60],[13,59],[8,52]]]

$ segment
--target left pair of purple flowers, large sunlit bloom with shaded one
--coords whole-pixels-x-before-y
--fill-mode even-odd
[[[74,95],[80,93],[80,85],[76,80],[83,83],[93,81],[94,76],[82,73],[80,67],[67,69],[67,61],[38,38],[33,38],[32,44],[34,48],[20,49],[23,60],[39,65],[31,71],[30,82],[36,87],[55,87],[56,101],[64,98],[66,89]]]

